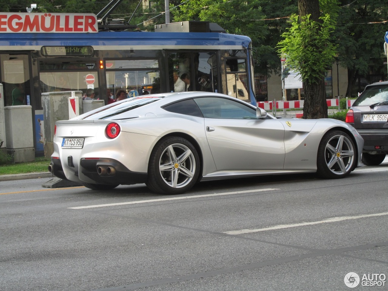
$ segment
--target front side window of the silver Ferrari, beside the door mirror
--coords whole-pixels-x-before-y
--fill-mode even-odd
[[[204,118],[256,119],[256,110],[240,102],[222,97],[194,99]]]

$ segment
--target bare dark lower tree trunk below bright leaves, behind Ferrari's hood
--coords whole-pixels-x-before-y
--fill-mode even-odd
[[[303,91],[303,119],[327,118],[325,78],[322,77],[318,84],[303,82]]]

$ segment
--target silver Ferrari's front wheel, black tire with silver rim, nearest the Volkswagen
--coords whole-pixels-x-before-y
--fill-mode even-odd
[[[356,166],[356,147],[350,136],[340,130],[327,132],[318,147],[317,173],[322,178],[346,177]]]

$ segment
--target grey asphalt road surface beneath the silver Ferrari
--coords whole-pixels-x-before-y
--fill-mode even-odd
[[[182,196],[3,181],[0,290],[348,290],[348,272],[388,276],[387,174],[384,162],[340,180],[206,182]]]

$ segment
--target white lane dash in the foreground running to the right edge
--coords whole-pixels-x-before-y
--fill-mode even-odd
[[[320,220],[320,221],[301,222],[301,223],[294,223],[294,224],[281,224],[281,225],[275,225],[275,226],[272,226],[272,227],[265,227],[263,229],[232,230],[232,231],[225,231],[223,233],[224,234],[249,234],[249,233],[252,233],[252,232],[260,232],[260,231],[266,231],[266,230],[287,229],[287,228],[290,228],[290,227],[314,225],[314,224],[328,223],[328,222],[338,222],[338,221],[343,221],[343,220],[359,219],[359,218],[365,218],[365,217],[376,217],[376,216],[383,216],[383,215],[388,215],[388,212],[374,213],[374,214],[365,214],[365,215],[357,215],[357,216],[333,217],[333,218],[328,218],[328,219],[324,219],[324,220]]]

